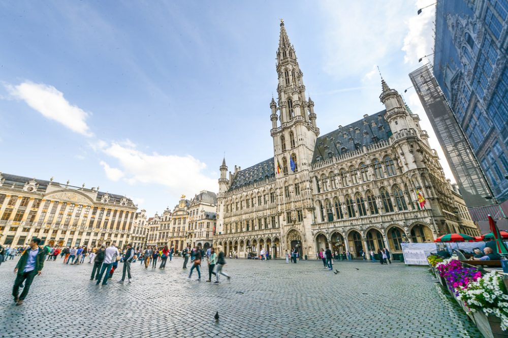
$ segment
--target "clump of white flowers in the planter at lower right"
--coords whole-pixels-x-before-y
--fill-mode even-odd
[[[482,310],[486,316],[497,316],[501,329],[508,329],[508,294],[500,275],[490,272],[457,292],[472,313]]]

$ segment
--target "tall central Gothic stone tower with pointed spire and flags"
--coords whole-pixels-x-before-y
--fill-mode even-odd
[[[278,100],[270,102],[271,135],[276,178],[277,214],[283,248],[295,246],[300,253],[313,250],[313,222],[310,169],[316,138],[314,103],[305,98],[303,73],[290,43],[284,22],[280,22],[277,49]],[[278,112],[278,115],[277,115]],[[277,124],[277,120],[280,124]],[[278,172],[280,168],[280,172]]]

